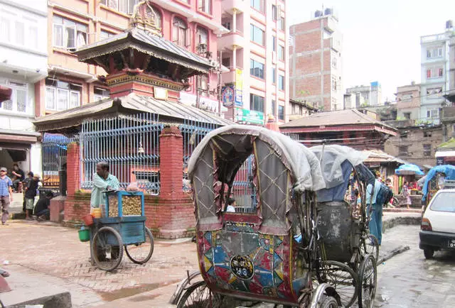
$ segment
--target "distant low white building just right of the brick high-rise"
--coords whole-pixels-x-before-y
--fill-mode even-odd
[[[356,86],[346,89],[345,108],[358,108],[363,106],[379,106],[382,103],[382,90],[379,82],[370,82],[368,86]],[[349,94],[355,96],[355,104]],[[348,101],[346,101],[348,99]]]

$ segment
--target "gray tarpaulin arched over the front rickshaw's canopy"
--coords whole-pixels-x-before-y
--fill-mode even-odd
[[[304,192],[305,190],[316,191],[326,187],[319,160],[311,150],[284,136],[282,133],[270,131],[267,128],[246,125],[224,126],[208,133],[193,151],[188,162],[188,175],[190,177],[196,170],[198,158],[203,155],[203,150],[210,140],[214,136],[225,134],[257,136],[260,140],[269,143],[279,154],[284,165],[291,170],[291,175],[294,177],[294,189],[297,192]]]

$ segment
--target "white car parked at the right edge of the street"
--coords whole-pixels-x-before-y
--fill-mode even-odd
[[[455,251],[455,189],[440,189],[434,195],[422,217],[419,237],[427,259],[434,251]]]

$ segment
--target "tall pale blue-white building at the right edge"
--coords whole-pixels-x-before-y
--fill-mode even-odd
[[[420,117],[434,123],[439,123],[439,109],[445,102],[444,94],[449,92],[451,84],[454,85],[449,74],[450,59],[454,57],[450,53],[450,42],[454,37],[453,23],[447,21],[444,33],[424,35],[420,38]]]

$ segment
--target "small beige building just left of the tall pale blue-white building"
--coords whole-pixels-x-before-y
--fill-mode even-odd
[[[397,87],[397,119],[412,120],[419,123],[420,118],[420,84]]]

